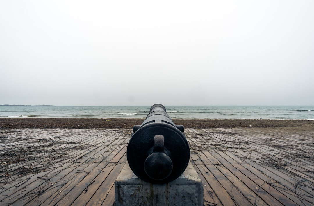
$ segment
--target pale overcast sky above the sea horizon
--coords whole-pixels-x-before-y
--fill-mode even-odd
[[[314,105],[313,11],[313,0],[0,0],[0,104]]]

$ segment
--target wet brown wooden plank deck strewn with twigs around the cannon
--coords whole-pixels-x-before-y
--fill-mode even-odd
[[[313,205],[314,129],[295,129],[185,129],[204,205]],[[0,204],[114,205],[130,133],[1,129]]]

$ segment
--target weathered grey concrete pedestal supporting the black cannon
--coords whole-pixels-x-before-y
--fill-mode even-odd
[[[126,163],[115,181],[115,205],[203,205],[203,185],[189,162],[176,180],[151,184],[138,178]]]

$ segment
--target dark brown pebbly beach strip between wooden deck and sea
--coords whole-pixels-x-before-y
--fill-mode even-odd
[[[144,119],[133,118],[0,118],[0,129],[20,128],[132,128],[142,124]],[[310,119],[172,119],[176,125],[185,128],[232,128],[232,127],[309,127]]]

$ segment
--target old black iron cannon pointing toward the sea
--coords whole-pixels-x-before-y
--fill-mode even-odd
[[[182,125],[175,125],[166,108],[154,104],[141,125],[134,125],[127,145],[127,162],[136,176],[153,184],[178,178],[187,168],[190,148]]]

